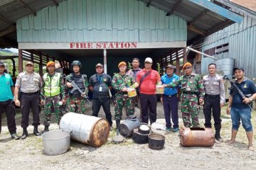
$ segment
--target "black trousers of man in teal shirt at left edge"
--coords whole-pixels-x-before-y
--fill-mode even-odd
[[[7,127],[10,134],[16,133],[16,123],[15,123],[15,106],[13,100],[0,101],[0,133],[1,133],[1,115],[6,113]]]

